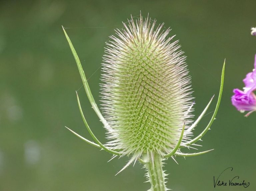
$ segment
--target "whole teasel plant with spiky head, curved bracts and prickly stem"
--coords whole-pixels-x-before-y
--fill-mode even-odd
[[[201,140],[215,120],[223,91],[225,61],[215,110],[202,133],[193,137],[192,131],[207,112],[213,97],[193,121],[191,112],[194,102],[186,57],[179,50],[178,41],[173,40],[174,36],[168,37],[170,29],[163,30],[163,24],[156,26],[155,20],[149,17],[143,19],[141,15],[123,25],[122,30],[116,30],[115,36],[110,36],[103,56],[101,101],[104,116],[95,103],[81,62],[63,27],[87,97],[107,130],[108,143],[101,143],[93,134],[78,94],[79,110],[94,142],[67,129],[86,143],[113,154],[112,159],[129,156],[130,160],[119,172],[139,160],[147,169],[150,191],[166,191],[163,160],[169,157],[175,160],[176,156],[197,156],[213,150],[197,153],[181,151],[197,146],[196,142]]]

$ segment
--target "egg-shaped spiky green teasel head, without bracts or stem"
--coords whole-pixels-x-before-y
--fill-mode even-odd
[[[123,25],[110,37],[103,56],[101,90],[109,145],[128,155],[163,156],[177,145],[184,124],[191,123],[185,56],[163,24],[140,16]],[[185,131],[183,141],[190,136]]]

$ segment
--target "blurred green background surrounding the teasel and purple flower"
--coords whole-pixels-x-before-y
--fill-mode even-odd
[[[105,42],[132,14],[149,13],[171,27],[187,55],[198,116],[218,94],[226,58],[224,92],[217,120],[203,138],[197,157],[169,159],[168,188],[180,191],[256,190],[256,113],[248,118],[231,105],[233,88],[253,68],[256,37],[254,0],[171,1],[1,1],[0,2],[0,190],[141,191],[150,187],[142,165],[114,176],[128,158],[114,159],[73,134],[91,139],[77,106],[97,137],[105,130],[86,97],[61,25],[81,59],[92,93],[99,102],[101,61]],[[215,97],[208,113],[214,110]],[[200,133],[211,114],[196,128]],[[183,150],[189,152],[189,150]],[[190,152],[194,152],[191,150]],[[233,167],[222,179],[236,175],[248,188],[214,188],[213,176]]]

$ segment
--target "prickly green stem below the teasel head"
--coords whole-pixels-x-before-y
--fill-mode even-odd
[[[146,162],[148,182],[151,184],[151,188],[148,191],[167,191],[165,185],[166,174],[163,171],[162,157],[155,154],[152,159]]]

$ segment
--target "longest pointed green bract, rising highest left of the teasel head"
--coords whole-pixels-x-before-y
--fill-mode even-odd
[[[68,37],[68,35],[67,35],[67,33],[66,33],[66,31],[65,31],[65,29],[64,29],[63,26],[62,26],[62,29],[63,29],[64,34],[65,34],[65,36],[66,36],[66,39],[67,39],[67,41],[68,41],[69,47],[70,47],[70,49],[71,49],[71,51],[72,51],[72,53],[73,53],[73,56],[74,56],[74,58],[75,58],[75,60],[76,60],[77,67],[78,67],[80,76],[81,76],[81,78],[82,78],[82,81],[83,81],[83,84],[84,84],[84,88],[85,88],[87,97],[88,97],[88,99],[89,99],[89,101],[90,101],[90,103],[91,103],[91,105],[92,105],[92,108],[93,108],[94,111],[96,112],[97,116],[100,118],[100,121],[103,123],[103,125],[104,125],[105,127],[108,127],[109,125],[108,125],[107,121],[104,119],[104,117],[103,117],[102,114],[100,113],[100,110],[99,110],[99,108],[98,108],[97,104],[95,103],[95,100],[94,100],[94,98],[93,98],[93,96],[92,96],[92,93],[91,93],[89,84],[88,84],[87,79],[86,79],[86,77],[85,77],[84,70],[83,70],[83,68],[82,68],[82,65],[81,65],[81,62],[80,62],[80,60],[79,60],[79,57],[78,57],[78,55],[77,55],[77,53],[76,53],[76,50],[75,50],[75,48],[73,47],[73,45],[72,45],[72,43],[71,43],[71,41],[70,41],[70,39],[69,39],[69,37]]]

